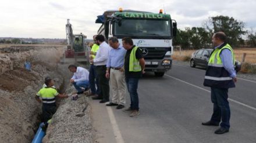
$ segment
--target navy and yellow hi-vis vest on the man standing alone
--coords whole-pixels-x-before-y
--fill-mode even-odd
[[[235,87],[233,79],[229,76],[229,72],[223,67],[221,60],[221,52],[223,49],[229,49],[232,53],[233,65],[234,65],[234,53],[232,47],[223,43],[221,47],[216,48],[212,53],[208,61],[207,71],[204,77],[204,86],[216,87],[222,89],[228,89]]]

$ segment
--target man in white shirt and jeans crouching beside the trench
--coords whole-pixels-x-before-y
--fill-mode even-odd
[[[70,79],[70,83],[73,83],[74,88],[77,90],[77,94],[84,93],[84,89],[88,89],[89,87],[89,72],[85,68],[76,67],[76,65],[69,65],[68,68],[70,72],[74,73]]]

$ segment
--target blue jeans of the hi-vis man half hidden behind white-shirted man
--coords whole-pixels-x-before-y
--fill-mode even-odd
[[[92,94],[99,94],[99,83],[98,83],[98,76],[96,73],[96,69],[95,69],[95,65],[90,65],[90,69],[89,69],[89,83],[90,83],[90,89],[91,89],[91,93]],[[96,82],[95,82],[96,79]],[[95,87],[95,83],[97,85],[97,90]]]

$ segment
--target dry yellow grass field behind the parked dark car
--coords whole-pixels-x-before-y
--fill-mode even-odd
[[[176,50],[173,53],[172,58],[173,60],[188,61],[194,51],[195,50],[182,50],[180,52],[179,50]],[[242,61],[243,53],[246,53],[246,63],[256,64],[256,48],[235,48],[234,54],[236,60]]]

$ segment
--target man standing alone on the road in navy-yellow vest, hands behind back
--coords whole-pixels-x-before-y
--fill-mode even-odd
[[[230,107],[228,89],[235,87],[237,82],[236,71],[234,70],[234,53],[232,47],[226,43],[226,35],[223,32],[216,32],[212,36],[214,51],[208,61],[208,68],[205,73],[204,86],[211,87],[211,101],[214,103],[214,113],[204,126],[219,126],[215,134],[223,134],[229,131]]]

